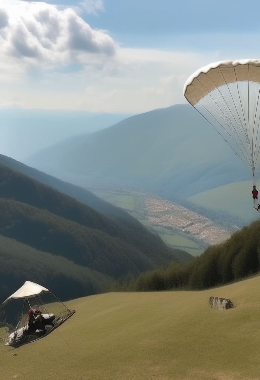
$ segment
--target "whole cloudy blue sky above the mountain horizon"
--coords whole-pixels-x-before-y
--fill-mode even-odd
[[[259,14],[254,0],[2,0],[0,106],[137,113],[185,103],[201,66],[259,57]]]

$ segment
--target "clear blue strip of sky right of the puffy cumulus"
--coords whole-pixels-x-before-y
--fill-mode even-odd
[[[79,4],[70,0],[47,2]],[[82,17],[92,27],[108,29],[112,35],[257,33],[260,27],[260,3],[255,0],[250,1],[250,6],[239,0],[103,0],[102,3],[103,11],[83,12]]]

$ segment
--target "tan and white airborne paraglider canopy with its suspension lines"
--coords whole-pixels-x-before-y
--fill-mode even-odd
[[[260,169],[260,60],[220,61],[190,76],[184,96],[241,158]]]

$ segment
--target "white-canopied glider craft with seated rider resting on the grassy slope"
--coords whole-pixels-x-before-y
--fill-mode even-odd
[[[49,289],[26,281],[0,305],[0,340],[17,347],[40,339],[74,313]]]

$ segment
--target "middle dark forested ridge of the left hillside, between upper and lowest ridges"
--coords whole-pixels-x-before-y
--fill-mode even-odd
[[[140,243],[130,236],[126,241],[13,199],[0,198],[0,210],[0,234],[113,278],[137,275],[176,258],[163,242],[156,247],[156,239]]]

